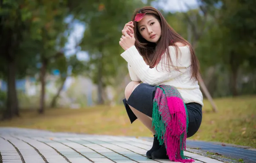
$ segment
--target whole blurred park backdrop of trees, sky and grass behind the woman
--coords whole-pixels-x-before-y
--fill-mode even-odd
[[[190,139],[256,147],[256,0],[0,0],[0,126],[152,136],[122,104],[121,30],[159,9],[201,63]]]

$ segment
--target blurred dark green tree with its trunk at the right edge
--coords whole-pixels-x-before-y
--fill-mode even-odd
[[[238,72],[241,66],[249,63],[255,68],[256,56],[256,6],[255,0],[202,0],[208,6],[215,6],[217,26],[210,31],[215,47],[214,57],[208,60],[222,62],[230,71],[230,89],[238,95]],[[212,33],[211,33],[212,32]],[[217,47],[217,48],[216,48]],[[209,62],[208,62],[209,63]]]

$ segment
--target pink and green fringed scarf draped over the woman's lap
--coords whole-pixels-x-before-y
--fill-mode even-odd
[[[188,124],[188,112],[180,92],[170,85],[158,86],[153,99],[152,127],[155,126],[160,145],[165,143],[171,161],[194,161],[183,154],[186,150]]]

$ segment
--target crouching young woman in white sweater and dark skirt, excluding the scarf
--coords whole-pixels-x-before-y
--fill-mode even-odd
[[[187,137],[193,136],[202,120],[199,62],[189,42],[170,27],[157,9],[143,7],[132,20],[125,24],[119,41],[132,80],[125,88],[123,102],[131,123],[138,118],[154,136],[146,156],[168,159],[166,146],[160,145],[152,125],[156,88],[169,85],[177,89],[187,109]]]

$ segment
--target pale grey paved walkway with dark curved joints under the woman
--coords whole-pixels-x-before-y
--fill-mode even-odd
[[[52,133],[42,130],[0,128],[0,163],[171,163],[150,160],[152,142],[124,136]],[[185,152],[194,163],[222,163]]]

